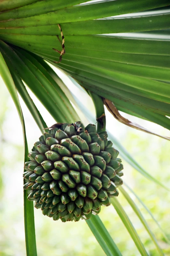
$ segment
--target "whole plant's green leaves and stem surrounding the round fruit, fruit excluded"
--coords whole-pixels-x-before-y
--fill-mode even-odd
[[[170,1],[83,2],[0,0],[0,74],[21,119],[25,162],[28,161],[28,147],[17,93],[42,133],[47,125],[23,82],[57,123],[79,120],[70,101],[83,109],[90,122],[95,122],[86,107],[66,89],[52,65],[63,70],[91,96],[96,108],[98,132],[105,130],[104,105],[117,120],[135,129],[155,134],[123,118],[119,110],[170,129]],[[111,134],[108,135],[137,171],[167,189],[162,181],[142,169]],[[163,255],[128,192],[123,187],[120,192],[141,220],[159,255]],[[148,255],[119,200],[113,198],[111,202],[140,254]],[[33,202],[27,200],[26,191],[24,211],[27,255],[32,256],[36,255],[34,211]],[[121,255],[98,216],[92,216],[86,222],[106,255]],[[165,239],[169,242],[166,236]]]

